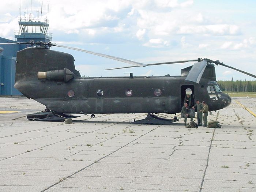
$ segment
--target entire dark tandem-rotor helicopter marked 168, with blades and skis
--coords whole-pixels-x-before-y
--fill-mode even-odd
[[[45,112],[28,114],[30,120],[58,121],[73,118],[72,114],[97,113],[148,113],[138,124],[169,124],[177,121],[157,117],[157,113],[176,114],[181,112],[186,90],[192,91],[192,104],[196,99],[205,101],[209,111],[227,107],[229,95],[221,92],[215,74],[215,65],[222,65],[250,75],[218,60],[195,59],[166,63],[143,64],[135,61],[72,48],[52,42],[16,42],[4,44],[33,45],[17,52],[15,85],[27,98],[46,106]],[[195,61],[190,67],[181,69],[180,76],[130,76],[82,78],[76,71],[71,54],[51,50],[51,46],[74,49],[118,60],[133,66],[185,63]],[[114,68],[120,69],[120,68]],[[106,69],[109,70],[109,69]],[[167,121],[166,121],[167,120]],[[136,123],[136,122],[134,122]]]

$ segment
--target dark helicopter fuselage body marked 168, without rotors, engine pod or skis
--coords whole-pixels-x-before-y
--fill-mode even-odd
[[[37,78],[38,71],[65,67],[74,73],[74,78],[68,82]],[[212,66],[208,68],[211,70]],[[192,99],[206,101],[209,110],[229,105],[230,97],[215,88],[215,98],[210,97],[207,87],[214,87],[217,83],[207,76],[203,75],[199,84],[185,80],[184,74],[81,78],[70,54],[45,48],[26,48],[17,53],[15,88],[56,113],[68,114],[179,113],[187,88],[192,89]],[[98,91],[102,94],[97,94]]]

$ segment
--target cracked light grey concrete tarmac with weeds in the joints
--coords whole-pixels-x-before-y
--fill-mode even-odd
[[[29,121],[45,106],[0,102],[0,191],[256,191],[256,99],[209,115],[220,129],[129,124],[146,114]]]

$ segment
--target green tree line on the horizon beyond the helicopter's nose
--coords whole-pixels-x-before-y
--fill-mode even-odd
[[[222,91],[256,92],[256,81],[233,80],[232,78],[231,81],[218,80],[217,82]]]

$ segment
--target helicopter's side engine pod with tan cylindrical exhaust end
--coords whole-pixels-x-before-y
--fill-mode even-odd
[[[68,82],[74,78],[74,73],[65,67],[64,69],[60,69],[60,70],[52,70],[52,71],[46,71],[46,72],[38,71],[37,78]]]

